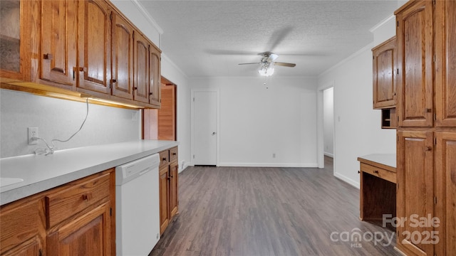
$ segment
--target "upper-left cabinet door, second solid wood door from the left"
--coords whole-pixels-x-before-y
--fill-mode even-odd
[[[110,28],[110,9],[105,1],[79,1],[79,88],[110,94]]]

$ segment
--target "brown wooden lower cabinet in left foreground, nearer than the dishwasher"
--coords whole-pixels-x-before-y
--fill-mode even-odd
[[[115,255],[115,173],[102,171],[0,208],[1,255]]]

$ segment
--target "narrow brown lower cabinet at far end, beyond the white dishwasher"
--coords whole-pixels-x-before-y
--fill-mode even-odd
[[[179,211],[177,146],[160,152],[160,234]]]

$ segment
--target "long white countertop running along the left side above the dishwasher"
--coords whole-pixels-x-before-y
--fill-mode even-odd
[[[177,146],[178,142],[140,140],[76,149],[53,154],[0,159],[0,176],[24,181],[0,188],[0,205],[31,196],[49,188],[140,159]]]

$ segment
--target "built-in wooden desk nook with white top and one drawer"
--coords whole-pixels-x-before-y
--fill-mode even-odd
[[[396,155],[370,154],[360,161],[360,218],[382,220],[396,215]]]

